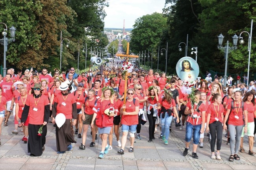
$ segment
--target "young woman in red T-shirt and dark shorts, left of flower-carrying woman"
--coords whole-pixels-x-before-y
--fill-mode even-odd
[[[85,142],[87,137],[86,134],[89,128],[89,124],[91,124],[93,120],[93,113],[94,113],[93,108],[95,107],[95,103],[98,101],[98,99],[96,99],[95,97],[95,91],[92,88],[88,90],[87,97],[85,98],[85,100],[81,106],[82,120],[83,120],[83,135],[82,135],[81,146],[79,146],[79,148],[83,150],[85,150]],[[91,127],[92,142],[90,143],[90,147],[95,146],[95,136],[96,136],[95,127],[94,128]]]

